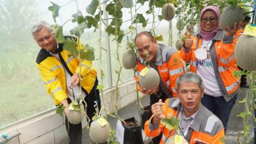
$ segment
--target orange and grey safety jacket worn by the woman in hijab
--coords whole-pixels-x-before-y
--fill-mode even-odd
[[[237,38],[224,35],[225,31],[218,31],[216,36],[212,39],[212,45],[209,52],[221,93],[228,102],[238,93],[240,77],[234,76],[234,71],[239,70],[234,56]],[[191,72],[196,72],[196,67],[198,65],[196,63],[194,51],[200,49],[203,42],[202,37],[200,37],[200,35],[198,36],[198,38],[193,39],[194,42],[190,51],[182,48],[180,52],[184,61],[189,62]]]

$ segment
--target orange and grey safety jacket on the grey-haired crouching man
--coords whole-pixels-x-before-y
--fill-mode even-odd
[[[177,117],[179,115],[178,109],[181,109],[180,100],[177,98],[167,99],[165,105],[163,106],[164,116],[166,118],[170,118],[170,116]],[[173,136],[174,130],[170,131],[162,125],[152,125],[151,120],[154,115],[145,123],[145,134],[148,137],[156,137],[161,132],[162,138],[159,144],[164,144],[164,141]],[[198,109],[198,112],[194,118],[193,124],[191,124],[190,128],[191,134],[186,136],[186,140],[188,140],[189,144],[196,143],[205,143],[205,144],[221,144],[225,143],[225,132],[223,129],[223,124],[221,120],[215,116],[211,111],[205,108],[202,104]]]

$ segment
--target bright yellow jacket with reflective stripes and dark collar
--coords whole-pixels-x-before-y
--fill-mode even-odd
[[[79,59],[75,58],[69,51],[63,50],[63,45],[58,44],[57,49],[60,60],[51,56],[46,49],[41,49],[36,58],[36,67],[40,70],[40,75],[44,81],[47,93],[51,95],[52,99],[57,105],[64,99],[67,99],[66,94],[67,84],[65,70],[61,63],[67,64],[67,71],[70,76],[79,73]],[[97,71],[92,67],[92,61],[81,60],[81,86],[82,90],[88,94],[91,92],[97,77]]]

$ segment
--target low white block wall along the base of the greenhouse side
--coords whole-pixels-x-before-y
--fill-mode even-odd
[[[115,104],[117,104],[118,109],[120,109],[136,100],[135,81],[132,79],[119,84],[118,93],[119,95],[116,103],[116,88],[113,87],[104,90],[104,98],[101,97],[101,100],[104,100],[105,108],[109,113],[115,112]],[[143,93],[139,93],[139,96],[142,97]],[[106,116],[104,111],[102,111],[102,116]],[[85,117],[82,125],[83,127],[87,125]],[[0,129],[0,134],[6,133],[9,136],[19,132],[21,133],[20,136],[8,141],[7,144],[60,143],[60,141],[67,138],[65,117],[61,118],[61,116],[55,113],[55,109],[50,109],[49,111],[31,116],[25,120],[7,125]]]

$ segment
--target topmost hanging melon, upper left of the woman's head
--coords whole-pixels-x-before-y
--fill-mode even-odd
[[[175,7],[172,3],[164,4],[162,8],[162,16],[165,20],[172,20],[175,15]]]

